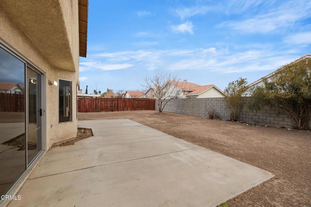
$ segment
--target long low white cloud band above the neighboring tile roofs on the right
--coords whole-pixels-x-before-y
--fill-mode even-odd
[[[190,58],[182,59],[168,65],[170,70],[210,70],[222,73],[237,73],[247,71],[262,71],[277,69],[294,60],[294,55],[284,52],[246,51],[225,54],[225,50],[214,56],[202,54],[198,51]]]

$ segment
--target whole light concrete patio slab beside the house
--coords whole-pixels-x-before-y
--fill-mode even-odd
[[[134,121],[79,126],[98,136],[50,149],[10,206],[216,206],[273,177]]]

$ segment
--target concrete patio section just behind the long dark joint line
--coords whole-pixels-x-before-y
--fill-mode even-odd
[[[52,148],[36,167],[30,179],[83,168],[163,155],[195,145],[172,136],[96,142]]]

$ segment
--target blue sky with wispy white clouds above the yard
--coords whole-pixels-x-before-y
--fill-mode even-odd
[[[310,0],[89,0],[80,88],[140,90],[160,70],[224,90],[308,53]]]

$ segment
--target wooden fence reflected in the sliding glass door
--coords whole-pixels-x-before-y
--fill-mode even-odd
[[[0,93],[0,111],[25,112],[25,95]]]

